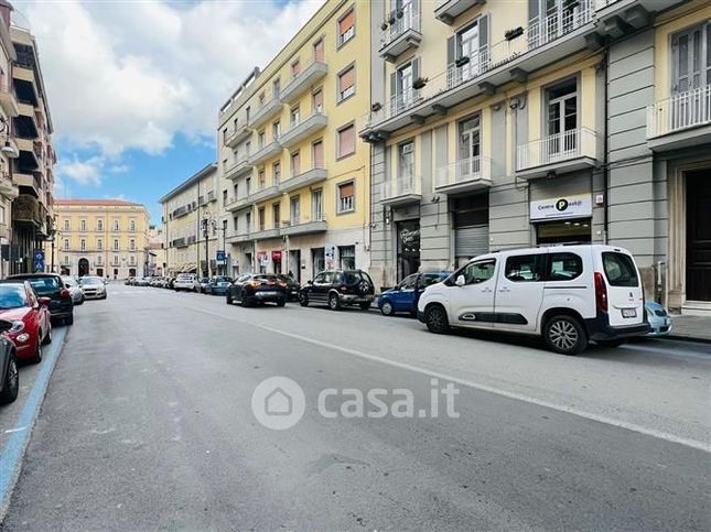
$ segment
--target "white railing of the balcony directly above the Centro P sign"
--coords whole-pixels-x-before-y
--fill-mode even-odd
[[[516,170],[524,171],[586,156],[595,159],[596,135],[588,128],[571,129],[519,145]]]

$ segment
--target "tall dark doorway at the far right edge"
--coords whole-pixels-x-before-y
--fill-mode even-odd
[[[687,177],[687,301],[711,301],[711,169]]]

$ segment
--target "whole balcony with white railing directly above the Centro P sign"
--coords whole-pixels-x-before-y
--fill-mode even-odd
[[[595,165],[596,152],[594,131],[571,129],[519,145],[516,172],[519,177],[530,180],[591,169]]]

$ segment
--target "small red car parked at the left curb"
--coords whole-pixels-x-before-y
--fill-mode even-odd
[[[49,304],[26,281],[0,283],[0,319],[12,324],[2,334],[14,344],[19,360],[42,360],[42,345],[52,341]]]

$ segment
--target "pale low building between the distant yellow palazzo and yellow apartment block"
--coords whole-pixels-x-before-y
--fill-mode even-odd
[[[159,200],[163,213],[166,274],[211,275],[218,271],[217,229],[222,217],[216,189],[217,165],[212,163]]]

